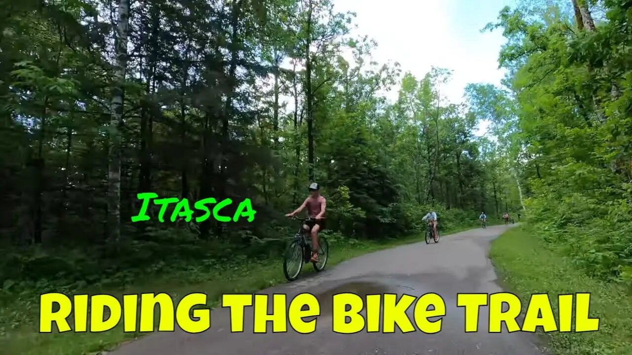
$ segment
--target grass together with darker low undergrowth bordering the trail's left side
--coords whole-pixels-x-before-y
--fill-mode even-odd
[[[497,220],[495,223],[501,222]],[[490,221],[490,224],[494,224],[494,221]],[[449,227],[442,226],[440,229],[447,235],[475,226],[478,223],[470,219],[460,223],[453,222]],[[348,238],[331,231],[324,234],[331,248],[328,268],[354,256],[421,240],[418,232],[377,240]],[[170,238],[181,236],[172,235]],[[58,256],[64,262],[61,265],[69,268],[70,272],[62,270],[56,277],[46,279],[4,280],[7,287],[1,291],[3,306],[0,308],[0,348],[11,354],[33,355],[91,354],[111,349],[120,342],[141,334],[125,334],[116,328],[98,334],[38,334],[39,295],[46,292],[63,292],[68,295],[107,293],[120,297],[130,293],[168,292],[177,300],[190,292],[205,292],[209,295],[209,306],[216,306],[223,293],[256,292],[285,282],[281,271],[281,256],[286,242],[287,238],[260,241],[251,248],[242,250],[230,245],[202,243],[195,239],[191,239],[188,246],[164,243],[162,249],[155,247],[165,255],[155,263],[128,270],[116,271],[116,268],[112,268],[104,277],[93,276],[89,279],[81,279],[81,275],[95,274],[85,270],[75,272],[73,269],[76,263],[85,262],[83,258],[77,256],[76,259],[64,260]],[[206,253],[203,252],[205,247],[209,248]],[[178,250],[181,253],[169,255]],[[42,251],[39,253],[33,252],[20,257],[25,260],[29,257],[44,260],[52,258]]]

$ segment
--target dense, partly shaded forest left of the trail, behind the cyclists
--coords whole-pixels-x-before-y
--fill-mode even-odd
[[[442,227],[522,208],[517,165],[473,134],[501,93],[473,84],[465,104],[447,102],[449,69],[416,78],[375,63],[377,44],[350,35],[354,14],[329,1],[12,0],[2,11],[0,279],[278,256],[293,227],[283,216],[311,181],[333,240],[415,231],[430,208]],[[156,207],[132,223],[145,192],[191,206],[229,198],[229,217],[247,198],[256,215],[171,222],[171,204],[165,222]]]

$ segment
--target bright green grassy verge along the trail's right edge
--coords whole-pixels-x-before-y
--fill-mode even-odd
[[[586,276],[561,253],[546,249],[528,227],[510,229],[495,239],[490,258],[503,286],[516,293],[523,305],[531,294],[550,294],[556,319],[557,294],[591,293],[590,316],[600,318],[600,330],[547,333],[551,354],[632,354],[632,297],[626,287]]]

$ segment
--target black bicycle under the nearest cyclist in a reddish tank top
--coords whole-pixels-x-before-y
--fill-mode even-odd
[[[329,259],[329,244],[324,236],[319,236],[319,252],[318,262],[312,262],[312,241],[309,234],[303,229],[305,222],[310,222],[312,219],[296,218],[300,220],[301,226],[298,232],[293,236],[292,241],[289,243],[288,248],[285,251],[283,257],[283,274],[288,281],[296,280],[298,274],[303,269],[303,263],[312,263],[314,270],[320,272],[324,270],[325,264]],[[293,267],[295,265],[295,267]],[[296,269],[296,270],[295,270]]]

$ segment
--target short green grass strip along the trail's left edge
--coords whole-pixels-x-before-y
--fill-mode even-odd
[[[488,222],[490,226],[501,223],[500,221]],[[447,235],[473,227],[480,226],[477,223],[466,224],[441,232]],[[327,268],[331,268],[337,263],[355,256],[421,241],[423,241],[423,236],[420,234],[411,234],[401,238],[386,238],[380,241],[355,241],[355,243],[336,243],[336,241],[331,241],[331,256],[327,262]],[[102,287],[100,289],[93,287],[88,290],[82,290],[82,292],[71,293],[107,293],[120,298],[123,294],[130,293],[167,292],[175,299],[179,299],[181,296],[191,292],[205,292],[209,296],[209,305],[217,306],[221,295],[224,293],[252,293],[286,282],[283,276],[282,265],[281,256],[260,261],[244,260],[243,264],[235,269],[224,269],[212,274],[195,275],[194,279],[197,279],[195,282],[186,281],[190,280],[191,277],[183,277],[182,274],[176,273],[157,277],[133,287]],[[303,277],[314,272],[310,265],[305,266],[303,272],[301,272]],[[67,294],[69,293],[67,292]],[[33,297],[29,301],[16,301],[13,306],[4,311],[0,322],[4,318],[4,320],[11,320],[12,324],[4,328],[6,329],[6,334],[0,334],[0,349],[3,349],[3,353],[23,355],[98,354],[100,351],[115,348],[121,342],[145,335],[125,334],[122,331],[122,326],[102,333],[66,332],[63,334],[39,334],[37,332],[39,328],[38,310],[39,299]],[[69,322],[71,318],[69,318]]]

